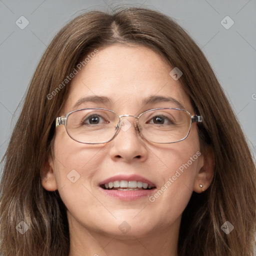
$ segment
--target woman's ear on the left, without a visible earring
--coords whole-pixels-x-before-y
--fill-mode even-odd
[[[57,189],[53,167],[53,158],[51,154],[49,154],[48,160],[43,164],[41,169],[41,184],[48,191],[55,191]]]

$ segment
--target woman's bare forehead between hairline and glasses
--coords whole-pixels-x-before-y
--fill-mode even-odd
[[[77,109],[77,101],[86,96],[109,98],[100,107],[111,107],[117,112],[136,112],[152,96],[171,97],[192,111],[181,84],[169,75],[172,67],[148,47],[114,44],[98,48],[98,53],[93,55],[72,79],[63,113]],[[173,104],[166,107],[180,108]]]

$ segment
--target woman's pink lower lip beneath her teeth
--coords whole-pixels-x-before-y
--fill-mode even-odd
[[[116,199],[120,199],[120,200],[136,200],[145,196],[148,197],[156,189],[156,188],[152,188],[152,189],[145,189],[145,190],[142,190],[142,189],[141,190],[116,190],[116,189],[108,190],[102,187],[99,187],[99,188],[106,195]]]

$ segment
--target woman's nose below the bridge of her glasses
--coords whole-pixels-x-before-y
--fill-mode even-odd
[[[119,132],[108,143],[111,143],[110,157],[113,160],[144,161],[148,151],[145,140],[139,135],[138,128],[134,125],[133,116],[123,116]]]

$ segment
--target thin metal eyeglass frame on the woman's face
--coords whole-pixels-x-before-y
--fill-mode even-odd
[[[115,126],[114,126],[115,129],[116,129],[116,128],[117,128],[117,129],[116,129],[116,131],[115,131],[115,134],[114,134],[109,140],[104,141],[104,142],[95,142],[95,143],[92,143],[92,142],[81,142],[81,141],[78,141],[78,140],[76,140],[76,139],[74,139],[74,138],[72,138],[72,137],[70,136],[70,134],[68,133],[67,128],[66,128],[67,117],[68,117],[71,113],[73,113],[73,112],[77,112],[77,111],[80,111],[80,110],[86,110],[86,109],[107,110],[107,111],[110,111],[110,112],[114,113],[116,116],[118,116],[119,121],[118,121],[118,123],[115,124]],[[190,118],[191,118],[190,126],[189,126],[189,130],[188,130],[188,132],[187,132],[187,134],[186,134],[186,136],[185,136],[184,138],[179,139],[179,140],[176,140],[176,141],[173,141],[173,142],[154,142],[154,141],[151,141],[151,140],[149,140],[149,139],[147,139],[146,137],[143,136],[143,134],[140,132],[139,125],[138,125],[138,119],[139,119],[139,117],[140,117],[142,114],[146,113],[146,112],[149,112],[149,111],[152,111],[152,110],[159,110],[159,109],[176,109],[176,110],[181,110],[181,111],[187,112],[187,113],[189,114],[189,116],[190,116]],[[65,126],[66,133],[68,134],[68,136],[69,136],[71,139],[73,139],[74,141],[77,141],[77,142],[79,142],[79,143],[83,143],[83,144],[102,144],[102,143],[106,143],[106,142],[111,141],[111,140],[119,133],[119,131],[120,131],[121,117],[128,117],[128,116],[131,116],[131,117],[134,117],[134,118],[137,119],[137,122],[135,123],[134,126],[135,126],[136,130],[139,132],[139,135],[140,135],[140,136],[142,136],[142,137],[143,137],[144,139],[146,139],[147,141],[150,141],[150,142],[153,142],[153,143],[158,143],[158,144],[169,144],[169,143],[176,143],[176,142],[182,141],[182,140],[186,139],[187,136],[189,135],[190,130],[191,130],[191,126],[192,126],[192,123],[193,123],[193,122],[202,122],[202,116],[201,116],[201,115],[197,115],[197,114],[191,115],[187,110],[184,110],[184,109],[181,109],[181,108],[173,108],[173,107],[152,108],[152,109],[146,110],[146,111],[140,113],[138,116],[136,116],[136,115],[131,115],[131,114],[121,114],[121,115],[118,115],[117,113],[115,113],[114,111],[112,111],[112,110],[110,110],[110,109],[101,108],[101,107],[89,107],[89,108],[80,108],[80,109],[72,110],[72,111],[66,113],[64,116],[58,116],[58,117],[56,117],[55,128],[56,128],[57,126],[63,124],[63,125]]]

